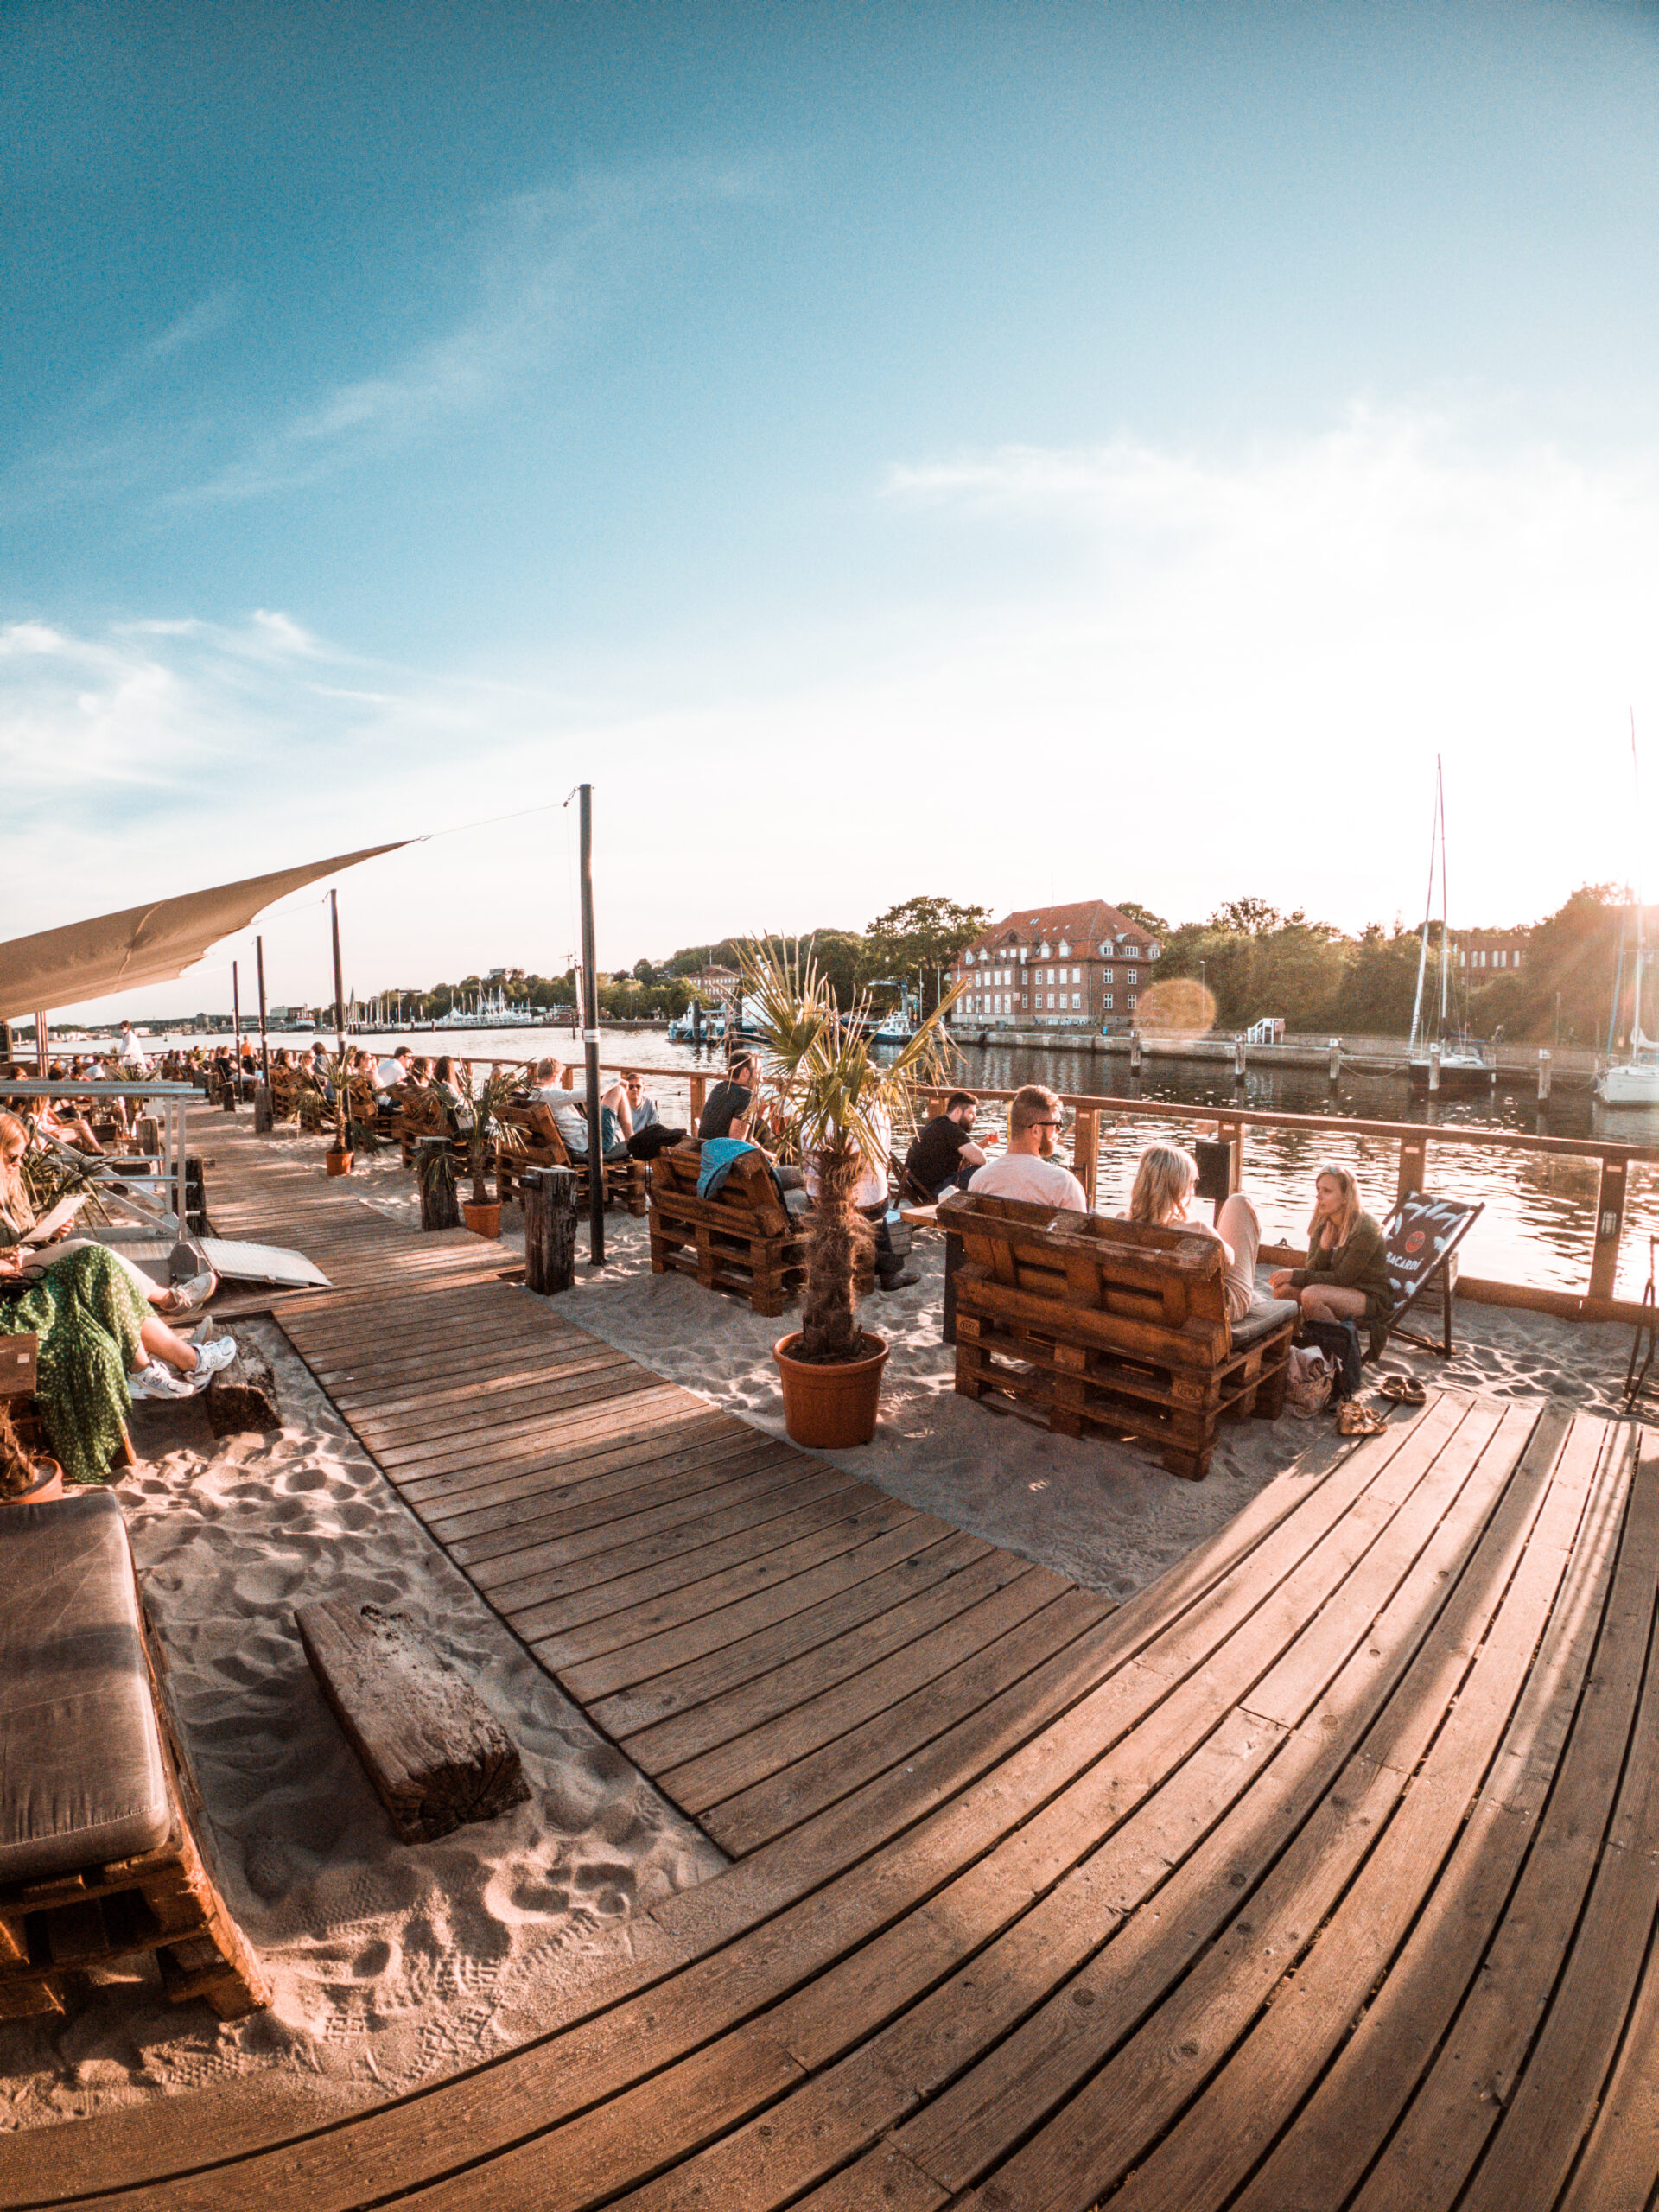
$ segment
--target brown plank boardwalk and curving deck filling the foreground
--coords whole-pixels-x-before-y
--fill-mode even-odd
[[[4,2203],[1652,2201],[1655,1431],[1442,1394],[1104,1613],[918,1515],[876,1526],[880,1493],[737,1422],[670,1442],[717,1418],[480,1279],[500,1252],[383,1228],[283,1325],[573,1694],[741,1856],[487,2066],[268,2143],[186,2126],[161,2157],[82,2124],[77,2194],[58,2130],[13,2137]]]

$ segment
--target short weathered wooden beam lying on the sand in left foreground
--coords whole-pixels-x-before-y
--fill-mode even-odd
[[[502,1723],[396,1613],[332,1597],[301,1606],[294,1626],[403,1843],[431,1843],[529,1798]]]

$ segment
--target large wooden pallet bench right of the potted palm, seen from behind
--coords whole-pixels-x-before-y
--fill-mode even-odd
[[[1208,1473],[1221,1420],[1283,1411],[1298,1312],[1274,1301],[1228,1323],[1214,1237],[971,1190],[942,1199],[938,1223],[962,1239],[964,1398],[1033,1405],[1057,1436],[1144,1438],[1192,1482]]]

